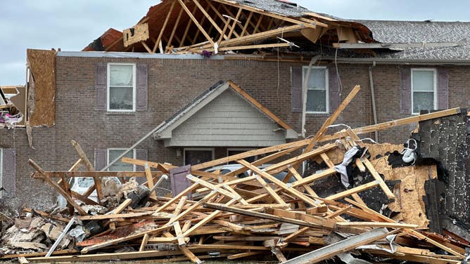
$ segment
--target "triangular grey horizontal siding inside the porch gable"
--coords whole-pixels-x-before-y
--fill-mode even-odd
[[[285,131],[231,90],[172,131],[167,146],[264,147],[286,143]]]

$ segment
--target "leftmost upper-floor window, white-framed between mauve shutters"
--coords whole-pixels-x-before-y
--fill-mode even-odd
[[[135,76],[134,64],[108,64],[108,111],[135,111]]]

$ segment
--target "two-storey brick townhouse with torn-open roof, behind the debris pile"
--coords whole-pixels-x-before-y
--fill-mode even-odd
[[[240,6],[230,4],[229,11],[240,8],[255,17],[265,10],[262,15],[274,15],[275,22],[258,23],[266,24],[265,32],[288,27],[276,25],[280,13],[291,20],[313,20],[315,14],[318,25],[333,28],[333,33],[328,29],[317,41],[298,31],[280,33],[274,39],[292,39],[300,48],[265,44],[267,48],[252,46],[234,54],[225,53],[222,46],[217,54],[208,48],[207,55],[167,52],[171,48],[148,53],[152,48],[145,41],[126,48],[108,30],[84,51],[28,50],[25,118],[30,125],[0,129],[1,206],[41,209],[54,204],[56,192],[30,178],[27,160],[34,159],[48,171],[67,170],[77,160],[70,140],[77,140],[96,169],[102,169],[158,127],[126,157],[182,166],[314,134],[355,85],[361,91],[337,124],[367,126],[420,110],[470,104],[470,43],[462,41],[470,39],[469,22],[351,21],[276,0],[235,2]],[[262,5],[267,2],[272,6]],[[170,4],[167,0],[152,7],[141,22],[150,24],[164,8],[177,14]],[[222,0],[213,4],[224,7]],[[249,16],[237,18],[249,25]],[[168,17],[173,32],[183,34],[175,21],[182,16]],[[163,22],[155,27],[161,29]],[[157,30],[153,28],[150,24],[150,33]],[[343,29],[353,37],[345,39]],[[123,34],[118,35],[122,41]],[[179,39],[184,42],[184,37]],[[412,129],[402,126],[367,136],[401,143]],[[120,162],[110,167],[140,169]]]

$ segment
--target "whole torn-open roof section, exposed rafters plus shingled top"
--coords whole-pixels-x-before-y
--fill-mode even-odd
[[[359,22],[313,13],[288,1],[163,0],[134,27],[120,36],[110,29],[84,51],[251,53],[296,43],[375,42],[370,36]]]

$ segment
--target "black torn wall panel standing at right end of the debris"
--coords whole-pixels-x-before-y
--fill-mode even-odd
[[[442,164],[445,183],[445,214],[470,223],[470,126],[466,109],[460,114],[419,122],[419,153],[426,162]],[[442,217],[442,216],[441,216]]]

